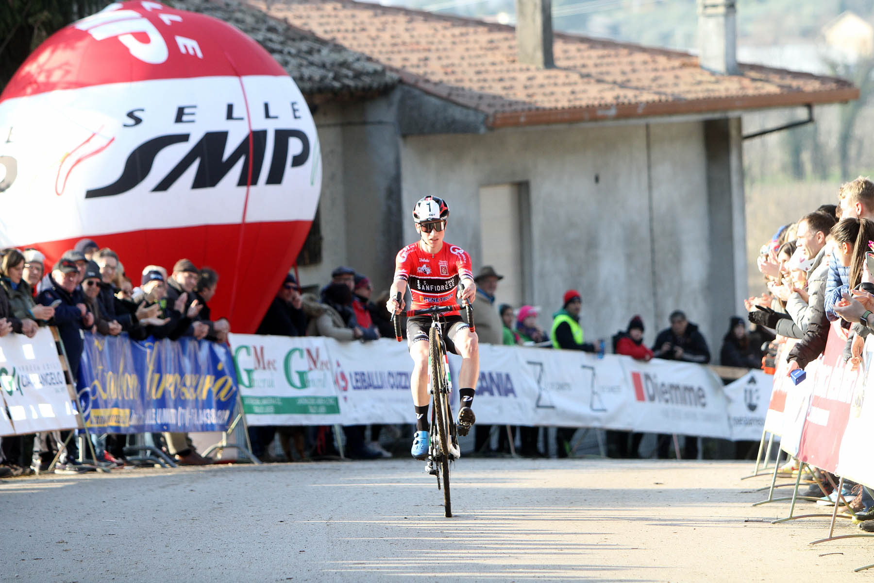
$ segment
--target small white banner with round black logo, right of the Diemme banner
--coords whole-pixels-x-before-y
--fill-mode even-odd
[[[772,387],[773,375],[765,371],[749,371],[723,387],[732,440],[760,440]]]

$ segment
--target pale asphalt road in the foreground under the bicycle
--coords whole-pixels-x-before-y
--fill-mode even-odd
[[[422,462],[318,462],[0,481],[3,581],[862,581],[874,541],[749,463],[462,459],[453,518]],[[811,510],[807,503],[803,510]],[[825,511],[823,509],[817,509]],[[857,532],[849,521],[838,534]]]

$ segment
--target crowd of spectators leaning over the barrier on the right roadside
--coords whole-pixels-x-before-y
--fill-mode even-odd
[[[851,361],[853,368],[861,364],[864,338],[874,330],[874,183],[858,177],[843,184],[836,202],[780,226],[761,248],[757,264],[767,291],[746,300],[746,308],[755,331],[771,339],[768,368],[776,368],[779,363],[773,362],[773,355],[780,344],[786,344],[781,354],[787,359],[788,372],[804,369],[825,350],[832,323],[848,335],[844,361]],[[729,335],[737,340],[723,349],[724,360],[747,362],[746,348],[756,341],[745,341],[733,330]],[[781,469],[797,472],[799,463],[790,459]],[[834,505],[838,493],[820,470],[815,471],[825,489],[813,485],[801,494]],[[837,476],[831,477],[838,482]],[[844,483],[842,496],[850,510],[857,513],[864,531],[874,531],[874,500],[860,484]]]

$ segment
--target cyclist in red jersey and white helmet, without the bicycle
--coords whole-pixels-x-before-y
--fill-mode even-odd
[[[411,309],[431,306],[449,306],[457,302],[459,284],[464,285],[461,300],[473,302],[476,297],[474,275],[470,255],[459,246],[446,243],[446,224],[449,206],[442,198],[423,197],[413,207],[413,220],[420,240],[407,245],[395,260],[394,281],[390,299],[385,303],[389,313],[404,309],[404,300],[397,301],[398,293],[404,297],[410,288],[413,297]],[[476,418],[471,406],[474,404],[476,380],[480,373],[479,344],[476,333],[461,319],[456,310],[444,316],[443,337],[447,350],[461,356],[461,371],[458,393],[461,409],[456,427],[458,433],[467,435]],[[428,329],[430,316],[413,316],[406,322],[406,342],[413,357],[411,387],[413,406],[416,410],[416,434],[413,436],[413,457],[422,460],[428,451]]]

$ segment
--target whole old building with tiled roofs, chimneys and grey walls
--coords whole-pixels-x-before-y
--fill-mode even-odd
[[[228,5],[314,109],[321,248],[303,283],[346,264],[387,288],[413,203],[433,194],[451,205],[447,240],[506,275],[499,302],[542,306],[548,325],[579,289],[590,338],[640,314],[651,341],[684,309],[718,353],[746,297],[740,115],[857,97],[738,65],[733,3],[701,12],[701,59],[553,35],[548,17],[517,31],[350,0]]]

